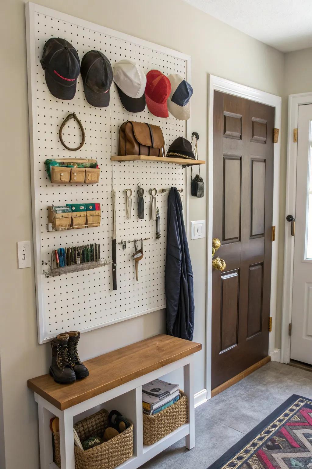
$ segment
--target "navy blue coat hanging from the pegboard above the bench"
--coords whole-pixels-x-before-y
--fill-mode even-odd
[[[168,196],[165,284],[167,334],[192,340],[194,329],[193,272],[181,197],[176,187],[170,188]]]

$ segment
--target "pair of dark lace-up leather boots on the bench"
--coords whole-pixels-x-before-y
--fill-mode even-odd
[[[71,331],[58,334],[51,340],[52,363],[50,375],[61,384],[73,383],[76,379],[86,378],[89,371],[78,356],[77,344],[80,332]]]

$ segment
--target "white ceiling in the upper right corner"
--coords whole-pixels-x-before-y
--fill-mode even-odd
[[[184,0],[282,52],[312,47],[311,0]]]

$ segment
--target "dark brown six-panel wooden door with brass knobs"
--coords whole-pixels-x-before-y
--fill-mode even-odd
[[[268,356],[275,109],[214,92],[212,389]]]

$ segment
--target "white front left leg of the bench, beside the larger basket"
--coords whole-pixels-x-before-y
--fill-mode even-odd
[[[64,410],[59,417],[59,443],[62,469],[75,469],[73,415]]]

